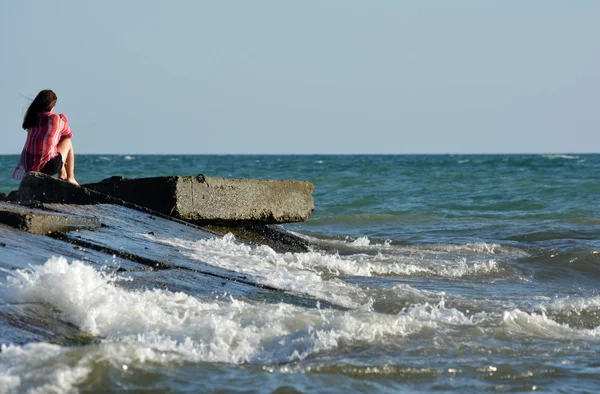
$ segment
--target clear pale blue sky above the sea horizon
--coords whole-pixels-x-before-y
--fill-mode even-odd
[[[600,151],[600,1],[0,0],[0,154]]]

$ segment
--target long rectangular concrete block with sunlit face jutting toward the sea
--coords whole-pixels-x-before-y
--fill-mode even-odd
[[[314,210],[314,186],[306,181],[112,177],[83,186],[197,224],[302,222]]]

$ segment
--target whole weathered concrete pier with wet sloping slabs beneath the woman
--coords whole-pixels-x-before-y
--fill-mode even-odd
[[[195,260],[160,242],[195,242],[231,232],[245,243],[276,251],[307,251],[305,239],[278,224],[306,220],[314,209],[313,190],[304,181],[200,176],[113,177],[78,187],[29,173],[18,190],[0,194],[0,275],[63,256],[96,269],[109,264],[128,272],[133,287],[335,307]],[[0,332],[1,343],[89,341],[44,304],[0,302]]]

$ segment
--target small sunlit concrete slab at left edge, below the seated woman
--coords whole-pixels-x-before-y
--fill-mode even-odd
[[[90,230],[100,226],[94,217],[69,215],[0,202],[0,223],[33,234]]]

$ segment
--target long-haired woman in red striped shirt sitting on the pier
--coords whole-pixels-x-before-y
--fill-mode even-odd
[[[56,100],[52,90],[42,90],[29,105],[23,119],[27,140],[21,161],[13,172],[14,179],[22,179],[29,171],[39,171],[58,174],[60,179],[79,186],[75,180],[73,132],[65,114],[52,112]]]

